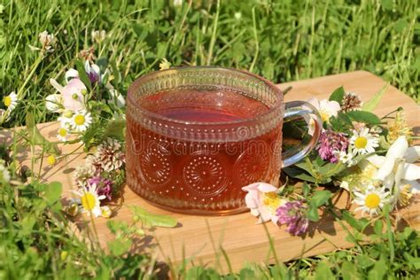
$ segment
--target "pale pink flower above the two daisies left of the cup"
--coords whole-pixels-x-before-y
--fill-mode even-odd
[[[62,94],[66,110],[75,112],[85,108],[84,95],[87,89],[79,78],[73,78],[64,87],[54,79],[50,79],[50,82]]]

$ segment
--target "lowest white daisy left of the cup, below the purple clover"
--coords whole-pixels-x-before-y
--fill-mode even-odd
[[[100,200],[105,199],[104,195],[97,195],[97,185],[89,184],[87,188],[82,187],[79,191],[73,191],[80,199],[82,204],[82,212],[93,214],[94,217],[98,217],[102,214]]]

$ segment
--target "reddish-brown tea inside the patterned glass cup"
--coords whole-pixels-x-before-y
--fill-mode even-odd
[[[281,123],[258,136],[246,127],[224,127],[267,112],[261,101],[232,90],[183,89],[137,103],[152,113],[150,120],[191,124],[177,129],[128,110],[128,186],[152,203],[191,214],[231,214],[245,210],[245,185],[278,183]]]

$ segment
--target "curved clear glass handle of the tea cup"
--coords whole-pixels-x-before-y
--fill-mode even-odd
[[[303,138],[301,143],[282,153],[282,167],[291,166],[311,152],[318,143],[323,128],[323,121],[314,105],[305,101],[287,102],[284,105],[284,120],[296,116],[303,117],[307,122],[308,134]]]

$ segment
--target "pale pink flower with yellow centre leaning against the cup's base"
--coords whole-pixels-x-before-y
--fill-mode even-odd
[[[259,222],[277,223],[276,208],[282,205],[283,199],[277,195],[277,188],[269,183],[252,183],[242,188],[248,193],[245,204],[251,214],[258,217]]]

